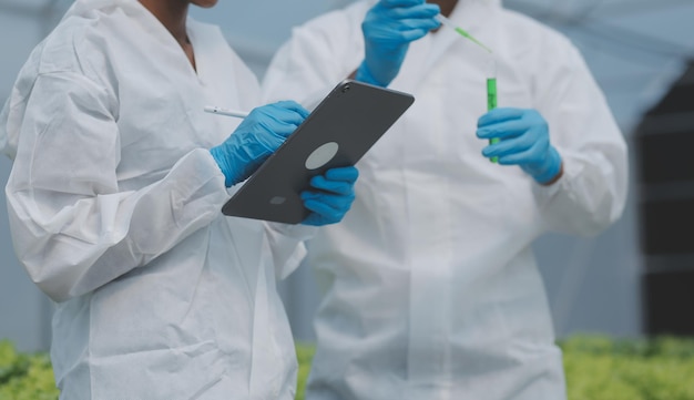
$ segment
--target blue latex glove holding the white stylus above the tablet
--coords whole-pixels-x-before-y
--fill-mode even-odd
[[[307,116],[308,111],[293,101],[253,109],[224,143],[210,150],[226,187],[251,176]]]

